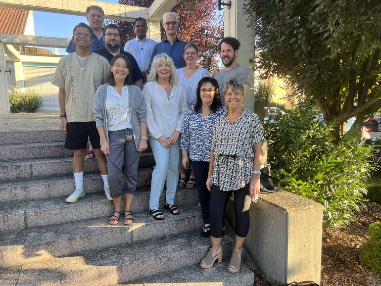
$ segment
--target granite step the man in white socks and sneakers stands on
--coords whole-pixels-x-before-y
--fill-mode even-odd
[[[133,210],[147,211],[149,195],[149,191],[137,191],[132,205]],[[65,199],[66,196],[29,202],[1,203],[0,232],[102,218],[109,216],[113,210],[112,201],[106,199],[103,191],[86,194],[75,203],[66,203]],[[179,207],[197,204],[197,190],[178,189],[175,202]],[[163,192],[160,205],[163,206],[164,203]]]

